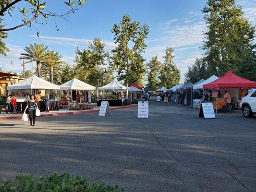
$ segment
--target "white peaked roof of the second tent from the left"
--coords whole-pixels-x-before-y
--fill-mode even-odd
[[[85,82],[82,82],[76,78],[73,78],[72,80],[61,84],[61,90],[95,90],[96,88],[90,84],[86,84]]]

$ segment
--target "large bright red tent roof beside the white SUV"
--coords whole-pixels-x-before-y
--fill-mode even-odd
[[[239,77],[238,75],[228,71],[219,79],[204,84],[204,89],[207,88],[243,88],[243,87],[256,87],[255,81],[250,81]]]

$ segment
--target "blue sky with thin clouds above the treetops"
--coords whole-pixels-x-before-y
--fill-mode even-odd
[[[58,13],[67,11],[64,0],[45,1],[48,10]],[[256,0],[237,0],[237,3],[243,7],[245,16],[256,24]],[[119,23],[124,14],[129,14],[133,20],[149,26],[144,53],[146,60],[157,55],[162,61],[165,48],[174,48],[174,61],[181,69],[183,82],[187,66],[203,54],[200,46],[205,22],[201,10],[205,4],[206,0],[87,0],[80,10],[68,17],[70,23],[56,19],[59,31],[52,19],[48,19],[47,25],[34,24],[32,29],[21,27],[10,31],[5,40],[10,52],[6,57],[0,56],[0,67],[4,71],[12,71],[12,61],[14,72],[22,72],[22,61],[18,58],[24,47],[34,42],[44,43],[49,49],[59,51],[63,60],[70,64],[73,64],[76,47],[87,47],[88,41],[95,37],[101,38],[106,50],[110,50],[114,46],[110,31],[113,24]],[[24,7],[24,3],[16,7]],[[12,18],[5,18],[8,26],[18,24],[22,19],[19,13],[13,12],[12,15]],[[36,36],[36,28],[40,37]],[[26,68],[31,69],[31,65]]]

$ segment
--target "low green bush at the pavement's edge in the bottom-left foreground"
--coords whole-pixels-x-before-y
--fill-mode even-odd
[[[92,183],[81,176],[71,177],[67,173],[54,173],[36,180],[32,175],[18,175],[18,182],[2,180],[0,192],[124,192],[118,185]],[[15,184],[14,184],[15,183]]]

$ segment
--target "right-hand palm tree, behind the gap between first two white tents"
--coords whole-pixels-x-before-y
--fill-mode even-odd
[[[46,54],[49,55],[49,58],[42,62],[42,73],[46,78],[49,74],[49,81],[54,83],[61,77],[63,64],[65,64],[65,62],[61,60],[62,56],[59,52],[48,50]]]

